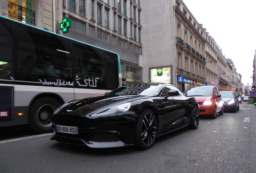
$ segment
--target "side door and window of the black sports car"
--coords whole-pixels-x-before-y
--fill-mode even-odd
[[[177,90],[173,86],[166,86],[161,93],[161,98],[164,99],[168,95],[170,90]],[[178,96],[169,96],[164,99],[164,111],[165,111],[165,129],[174,128],[180,125],[184,121],[184,115],[186,114],[186,99],[183,94],[179,92]]]

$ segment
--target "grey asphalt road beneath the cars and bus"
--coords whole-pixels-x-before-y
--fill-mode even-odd
[[[66,145],[19,128],[0,131],[0,173],[256,173],[256,107],[246,102],[146,151]]]

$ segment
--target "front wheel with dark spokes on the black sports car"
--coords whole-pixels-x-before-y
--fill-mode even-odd
[[[149,149],[157,137],[157,120],[150,109],[145,109],[138,116],[135,127],[135,147]]]

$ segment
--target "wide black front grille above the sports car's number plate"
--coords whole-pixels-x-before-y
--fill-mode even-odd
[[[74,126],[80,128],[96,128],[97,123],[95,121],[88,119],[86,117],[76,116],[76,115],[54,115],[52,118],[52,123],[56,125],[64,126]]]

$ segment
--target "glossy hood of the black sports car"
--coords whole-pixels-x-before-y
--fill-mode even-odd
[[[94,111],[106,109],[108,107],[131,102],[137,99],[141,99],[140,95],[127,95],[127,96],[98,96],[98,97],[89,97],[86,99],[80,99],[71,101],[56,110],[54,114],[72,114],[85,116]]]

